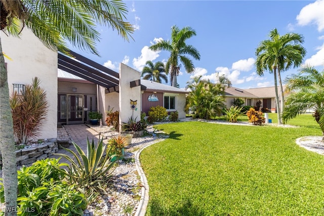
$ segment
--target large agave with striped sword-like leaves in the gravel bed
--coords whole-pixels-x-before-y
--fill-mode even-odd
[[[75,184],[82,189],[87,195],[88,201],[91,202],[99,192],[105,193],[107,181],[116,167],[115,160],[111,159],[116,155],[106,154],[104,156],[106,145],[103,144],[103,138],[100,139],[100,137],[97,145],[93,139],[90,143],[87,138],[87,154],[74,142],[73,146],[76,153],[62,147],[71,153],[73,158],[66,154],[57,153],[57,155],[66,158],[71,163],[66,171],[70,184]]]

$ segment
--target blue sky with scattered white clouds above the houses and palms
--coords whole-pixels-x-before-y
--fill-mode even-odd
[[[116,31],[99,27],[97,43],[100,57],[71,50],[116,72],[119,63],[142,71],[150,60],[166,62],[168,51],[153,52],[149,46],[160,39],[170,40],[171,27],[190,26],[196,36],[186,40],[200,53],[193,60],[195,72],[180,68],[180,88],[194,76],[202,75],[215,82],[216,73],[225,74],[232,86],[240,89],[270,87],[273,74],[256,74],[255,50],[269,32],[277,28],[280,35],[289,32],[304,36],[307,54],[303,64],[322,70],[324,66],[324,0],[317,1],[125,1],[127,21],[136,28],[133,39],[124,40]],[[281,78],[297,73],[299,68],[281,72]],[[170,81],[168,84],[171,84]]]

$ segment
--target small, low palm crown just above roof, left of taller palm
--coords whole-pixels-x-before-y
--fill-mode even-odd
[[[147,80],[161,83],[161,79],[164,79],[168,83],[168,76],[162,62],[156,62],[153,64],[151,61],[147,61],[146,65],[142,70],[142,77]]]

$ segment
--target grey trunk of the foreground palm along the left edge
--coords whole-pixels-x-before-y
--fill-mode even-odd
[[[17,215],[17,165],[13,120],[9,104],[8,74],[0,38],[0,151],[3,162],[5,215]],[[11,209],[11,210],[9,210]]]

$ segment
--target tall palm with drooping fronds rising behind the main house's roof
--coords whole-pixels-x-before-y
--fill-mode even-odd
[[[170,72],[171,85],[177,86],[177,75],[180,72],[179,61],[184,65],[187,73],[194,72],[194,65],[187,55],[192,56],[196,60],[200,60],[199,52],[191,45],[186,45],[186,39],[196,35],[195,30],[187,26],[179,29],[176,25],[171,27],[171,41],[160,40],[152,45],[152,51],[166,50],[171,53],[166,64],[167,74]]]

